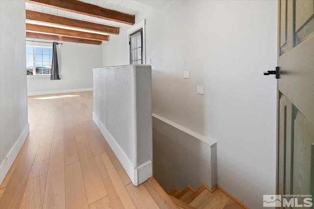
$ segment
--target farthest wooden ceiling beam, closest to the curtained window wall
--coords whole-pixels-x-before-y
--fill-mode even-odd
[[[94,44],[94,45],[102,45],[103,44],[102,41],[88,40],[88,39],[81,39],[81,38],[72,38],[72,37],[65,37],[65,36],[57,36],[57,35],[50,35],[50,34],[43,34],[43,33],[32,33],[32,32],[26,32],[26,38],[75,42],[75,43]]]

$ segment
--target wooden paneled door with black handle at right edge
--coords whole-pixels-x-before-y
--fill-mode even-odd
[[[277,193],[314,196],[314,0],[278,7]]]

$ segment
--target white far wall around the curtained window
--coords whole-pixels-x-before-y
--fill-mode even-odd
[[[27,40],[36,39],[27,38]],[[102,67],[103,65],[102,46],[71,42],[60,43],[63,43],[58,54],[61,79],[50,80],[50,76],[40,78],[38,78],[38,76],[36,78],[28,76],[28,95],[92,90],[93,68]],[[26,44],[32,46],[52,46],[52,44],[30,41],[27,41]],[[38,81],[40,81],[41,84],[38,84]]]

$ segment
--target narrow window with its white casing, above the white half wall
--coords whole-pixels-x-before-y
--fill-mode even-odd
[[[129,64],[145,64],[145,19],[127,30]]]

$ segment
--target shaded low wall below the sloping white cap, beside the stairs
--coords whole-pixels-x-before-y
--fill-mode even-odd
[[[216,185],[216,143],[209,144],[153,117],[154,177],[166,190]]]

